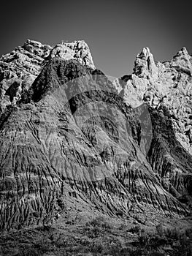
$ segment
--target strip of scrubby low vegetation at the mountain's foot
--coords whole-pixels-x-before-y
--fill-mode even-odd
[[[147,230],[140,225],[113,225],[104,217],[96,217],[63,230],[37,227],[2,234],[0,255],[191,256],[192,228],[157,225]]]

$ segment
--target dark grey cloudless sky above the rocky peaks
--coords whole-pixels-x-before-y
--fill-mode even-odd
[[[168,61],[192,52],[192,1],[1,1],[0,56],[26,39],[55,45],[84,39],[106,75],[131,74],[142,48]]]

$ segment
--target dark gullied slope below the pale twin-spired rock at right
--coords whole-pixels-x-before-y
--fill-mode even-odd
[[[147,159],[155,173],[161,176],[164,188],[178,199],[191,195],[192,157],[174,134],[172,120],[150,108],[153,140]]]

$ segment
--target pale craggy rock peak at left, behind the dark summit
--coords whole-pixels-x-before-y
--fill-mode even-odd
[[[28,91],[46,61],[54,58],[74,59],[86,67],[96,68],[88,45],[83,40],[63,42],[52,47],[27,39],[23,46],[0,58],[0,116],[8,105],[15,105],[21,94]]]

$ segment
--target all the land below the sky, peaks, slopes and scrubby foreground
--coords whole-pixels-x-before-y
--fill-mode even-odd
[[[0,58],[0,255],[192,255],[192,57],[109,78],[85,41]]]

